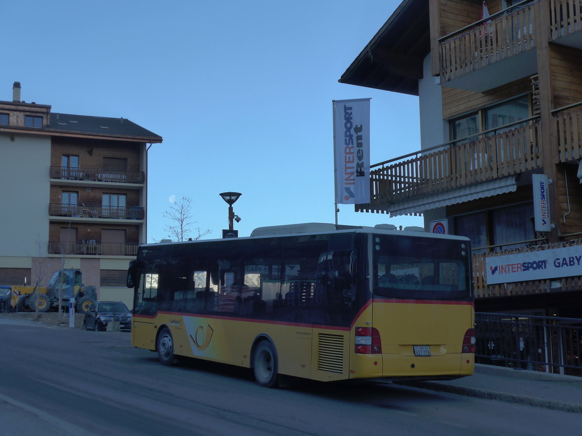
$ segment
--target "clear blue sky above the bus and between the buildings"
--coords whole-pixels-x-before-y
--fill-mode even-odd
[[[371,163],[420,149],[418,98],[338,83],[395,0],[124,1],[3,4],[0,100],[126,117],[161,135],[149,155],[148,242],[166,236],[171,196],[221,237],[228,205],[255,227],[329,222],[332,100],[371,97]],[[2,91],[3,89],[3,91]],[[340,224],[422,225],[356,213]]]

